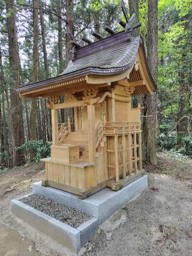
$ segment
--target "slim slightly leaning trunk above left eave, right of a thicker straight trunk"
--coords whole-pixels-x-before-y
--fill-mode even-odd
[[[44,32],[44,17],[43,17],[43,2],[40,0],[40,23],[41,23],[41,36],[42,36],[42,46],[43,46],[43,59],[44,59],[44,70],[46,72],[46,79],[49,78],[49,65],[47,58],[47,46],[46,46],[46,35]]]

